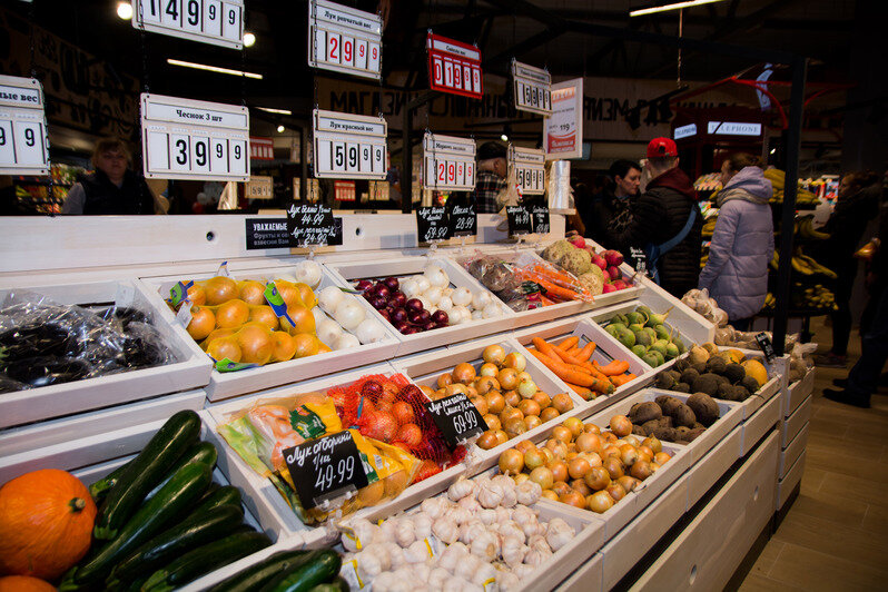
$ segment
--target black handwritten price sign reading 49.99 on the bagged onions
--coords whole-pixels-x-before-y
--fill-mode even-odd
[[[284,451],[305,509],[367,486],[367,472],[351,432],[312,440]]]

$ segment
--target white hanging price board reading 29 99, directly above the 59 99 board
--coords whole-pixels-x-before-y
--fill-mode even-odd
[[[308,2],[308,66],[378,80],[382,56],[378,14],[324,0]]]

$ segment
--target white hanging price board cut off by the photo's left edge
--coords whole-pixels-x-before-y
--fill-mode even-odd
[[[0,175],[49,175],[43,87],[0,76]]]

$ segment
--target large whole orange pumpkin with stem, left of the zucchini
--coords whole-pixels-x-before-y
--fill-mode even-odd
[[[76,476],[26,473],[0,487],[0,573],[55,580],[89,551],[96,504]]]

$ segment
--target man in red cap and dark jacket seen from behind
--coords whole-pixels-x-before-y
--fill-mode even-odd
[[[632,223],[611,248],[643,248],[648,269],[660,286],[681,297],[697,287],[703,217],[691,179],[679,168],[679,150],[669,138],[648,144],[651,180],[633,208]],[[610,245],[608,245],[610,247]]]

